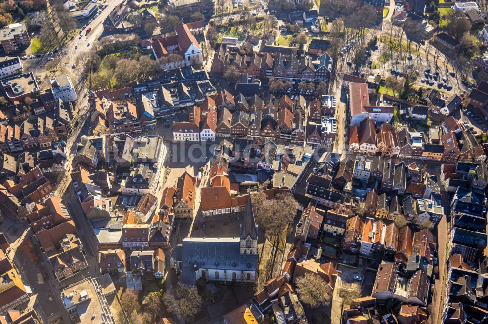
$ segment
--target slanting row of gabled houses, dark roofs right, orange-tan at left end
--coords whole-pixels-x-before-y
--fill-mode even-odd
[[[156,121],[170,120],[215,93],[206,72],[188,69],[177,70],[173,78],[168,75],[127,88],[95,92],[91,96],[93,134],[124,135],[154,128]]]

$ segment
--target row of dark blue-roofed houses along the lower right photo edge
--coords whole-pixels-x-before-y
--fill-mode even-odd
[[[443,169],[446,174],[451,171],[446,166]],[[469,177],[469,167],[458,166],[456,169],[458,172],[459,169],[464,171],[460,172],[463,175],[461,180]],[[488,294],[485,289],[488,260],[483,254],[487,245],[486,195],[460,185],[450,204],[447,280],[443,287],[446,299],[442,319],[453,323],[483,322],[488,319]]]

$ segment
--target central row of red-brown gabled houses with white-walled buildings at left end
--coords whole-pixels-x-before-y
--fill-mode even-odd
[[[217,109],[216,109],[217,108]],[[174,122],[174,141],[214,141],[216,137],[276,139],[332,147],[336,137],[335,98],[324,96],[309,103],[269,95],[232,97],[219,90],[193,108],[188,122]]]

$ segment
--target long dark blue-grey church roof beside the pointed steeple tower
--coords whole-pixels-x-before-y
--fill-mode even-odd
[[[216,270],[258,271],[257,254],[241,254],[239,238],[185,238],[182,243],[182,284],[196,284],[195,271]]]

